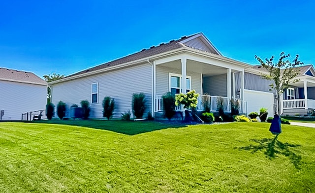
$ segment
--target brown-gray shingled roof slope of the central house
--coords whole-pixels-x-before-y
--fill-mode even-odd
[[[188,39],[189,37],[192,37],[192,36],[194,36],[196,34],[198,34],[198,33],[195,33],[195,34],[192,34],[192,35],[189,35],[189,36],[183,36],[180,39],[171,40],[171,41],[169,41],[167,43],[161,43],[158,46],[152,46],[149,49],[143,49],[140,52],[136,52],[134,54],[130,54],[130,55],[125,56],[123,58],[119,58],[117,60],[113,60],[113,61],[108,62],[108,63],[100,64],[100,65],[97,65],[95,67],[91,67],[91,68],[82,70],[80,72],[71,74],[71,75],[66,76],[66,77],[71,77],[71,76],[75,76],[75,75],[78,75],[78,74],[84,74],[86,72],[91,72],[91,71],[103,69],[103,68],[106,68],[106,67],[109,67],[109,66],[118,65],[118,64],[124,64],[124,63],[127,63],[127,62],[131,62],[131,61],[139,60],[139,59],[142,59],[142,58],[154,56],[154,55],[157,55],[157,54],[160,54],[160,53],[163,53],[163,52],[176,50],[178,48],[182,48],[183,47],[181,44],[178,44],[178,42],[183,41],[185,39]]]

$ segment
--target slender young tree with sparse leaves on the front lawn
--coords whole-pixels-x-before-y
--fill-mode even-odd
[[[271,80],[272,83],[269,85],[270,91],[274,90],[277,93],[278,103],[278,114],[280,114],[280,96],[283,94],[284,89],[287,89],[290,84],[298,82],[296,76],[299,74],[298,67],[304,63],[299,61],[299,55],[296,55],[292,62],[289,61],[290,54],[280,54],[280,58],[277,63],[274,62],[275,57],[272,56],[270,59],[264,61],[255,56],[255,59],[264,67],[269,74],[263,75],[263,78]]]

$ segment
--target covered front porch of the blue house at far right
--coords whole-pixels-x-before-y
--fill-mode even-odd
[[[286,89],[283,109],[284,112],[288,109],[315,109],[315,81],[305,78]]]

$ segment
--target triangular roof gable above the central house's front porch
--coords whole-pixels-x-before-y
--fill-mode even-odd
[[[180,43],[186,45],[187,47],[194,48],[197,50],[202,50],[210,52],[212,54],[217,54],[222,56],[219,50],[209,41],[209,39],[203,33],[197,33],[190,38],[187,38]]]

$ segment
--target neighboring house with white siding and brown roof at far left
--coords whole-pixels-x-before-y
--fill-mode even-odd
[[[21,120],[22,113],[45,109],[47,83],[33,74],[0,67],[2,120]]]

